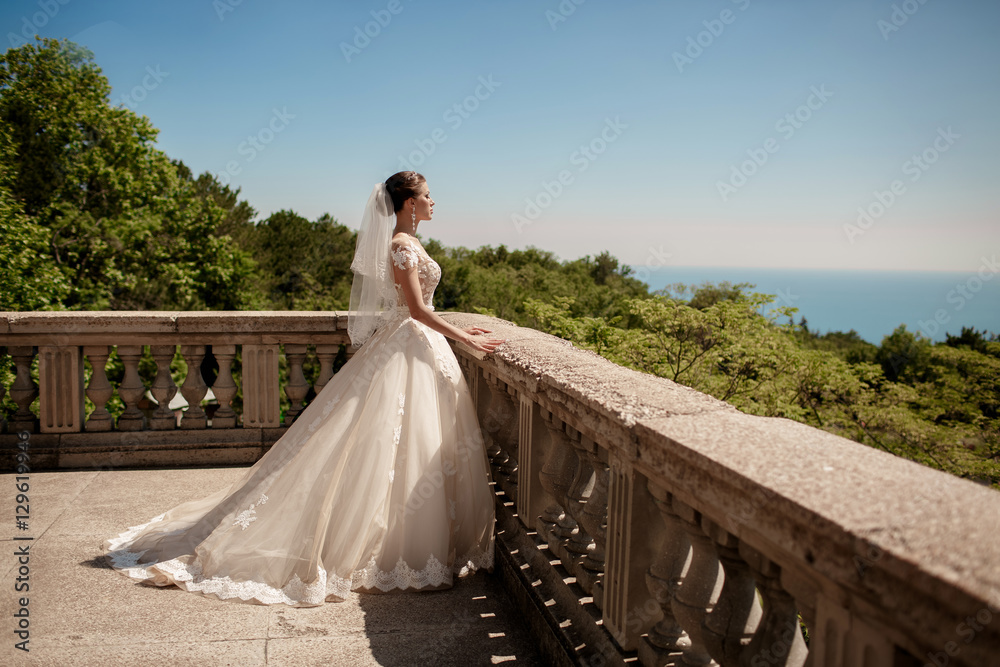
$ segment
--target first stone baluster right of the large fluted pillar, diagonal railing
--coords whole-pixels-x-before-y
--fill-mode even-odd
[[[661,486],[647,484],[663,519],[659,554],[646,571],[646,587],[663,617],[639,644],[639,661],[646,667],[678,664],[690,639],[674,616],[673,599],[691,563],[691,541],[673,511],[673,497]]]

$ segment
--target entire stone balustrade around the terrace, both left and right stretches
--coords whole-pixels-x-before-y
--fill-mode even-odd
[[[347,342],[344,313],[5,317],[0,345],[18,370],[0,391],[18,411],[0,451],[32,430],[49,467],[104,465],[114,443],[122,465],[177,452],[192,464],[255,460],[283,432],[281,348],[287,422],[308,394],[307,346],[327,355],[325,382],[330,355]],[[489,356],[454,347],[497,487],[499,574],[552,664],[1000,665],[996,491],[742,414],[532,329],[445,317],[508,340]],[[160,405],[178,391],[163,370],[175,346],[190,367],[211,346],[220,407],[210,425],[196,407],[207,391],[197,377],[179,389],[192,406],[179,428],[166,414],[131,410],[146,389],[144,345]],[[122,382],[115,388],[99,371],[85,387],[83,358],[103,369],[112,346]],[[237,348],[243,414],[230,415]],[[115,391],[127,409],[112,424],[102,408]],[[84,395],[95,406],[86,421]]]

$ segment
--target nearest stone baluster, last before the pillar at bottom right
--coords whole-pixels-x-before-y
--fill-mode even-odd
[[[740,542],[739,555],[757,579],[757,590],[764,598],[764,612],[757,632],[740,656],[740,665],[754,667],[801,667],[809,655],[795,599],[781,585],[781,567],[769,558]]]

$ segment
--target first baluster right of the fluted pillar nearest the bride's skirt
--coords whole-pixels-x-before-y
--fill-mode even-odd
[[[568,538],[576,522],[566,513],[567,494],[576,477],[577,458],[573,444],[566,436],[562,420],[544,408],[540,410],[542,422],[549,433],[549,450],[539,473],[542,488],[555,499],[538,517],[536,529],[550,548]]]

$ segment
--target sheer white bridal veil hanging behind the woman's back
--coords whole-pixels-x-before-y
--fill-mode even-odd
[[[392,198],[385,183],[379,183],[368,197],[351,262],[354,282],[347,333],[355,347],[368,340],[383,317],[396,308],[396,288],[389,266],[389,242],[395,225]]]

